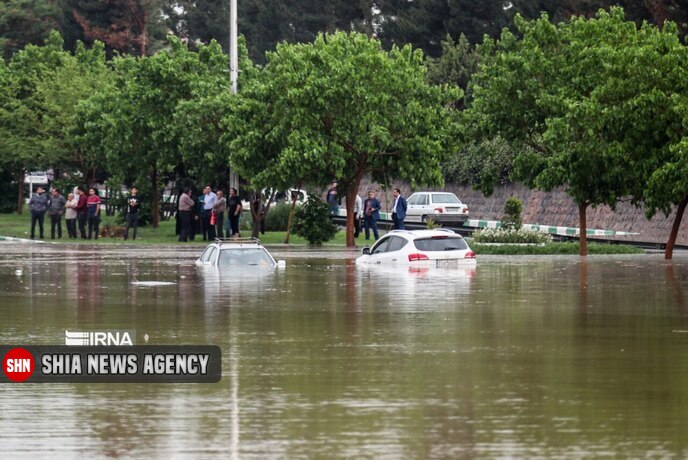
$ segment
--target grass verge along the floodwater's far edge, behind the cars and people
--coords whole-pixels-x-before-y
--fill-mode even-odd
[[[101,223],[107,225],[108,223],[114,223],[113,217],[105,217]],[[29,238],[31,230],[31,217],[28,212],[22,215],[17,214],[0,214],[0,236],[9,236],[14,238]],[[99,238],[95,240],[70,240],[66,238],[67,228],[62,225],[62,239],[54,240],[61,243],[70,244],[184,244],[177,241],[177,235],[175,235],[175,221],[168,220],[162,221],[160,226],[155,229],[151,226],[140,227],[138,231],[138,238],[133,241],[131,239],[124,241],[120,238]],[[384,232],[382,232],[384,233]],[[36,234],[38,234],[38,228],[36,228]],[[249,231],[242,231],[244,236],[249,236]],[[45,219],[44,224],[44,235],[46,236],[46,241],[50,240],[50,220]],[[265,235],[260,236],[261,242],[264,244],[282,244],[284,242],[285,232],[267,232]],[[306,241],[296,235],[291,235],[290,244],[293,245],[305,245]],[[359,238],[357,241],[357,246],[363,247],[372,245],[372,241],[366,242],[364,239]],[[186,244],[197,244],[203,245],[204,241],[201,240],[200,236],[196,237],[194,242]],[[328,242],[326,246],[341,246],[344,247],[346,244],[346,238],[344,232],[339,232],[335,238]],[[571,254],[576,255],[579,252],[578,243],[547,243],[544,246],[491,246],[483,245],[478,243],[471,243],[471,248],[478,255],[493,254],[493,255],[528,255],[528,254]],[[617,245],[617,244],[599,244],[599,243],[589,243],[588,253],[590,254],[640,254],[643,250],[636,248],[634,246],[628,245]]]

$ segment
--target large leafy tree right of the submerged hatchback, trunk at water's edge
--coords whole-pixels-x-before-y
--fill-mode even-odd
[[[565,188],[578,206],[586,255],[588,206],[614,208],[626,195],[637,201],[645,179],[626,150],[627,120],[634,119],[627,82],[647,71],[634,67],[634,53],[653,35],[620,9],[556,26],[546,15],[532,22],[517,16],[516,27],[521,39],[504,32],[483,44],[470,116],[483,135],[530,149],[516,156],[517,179],[543,190]]]

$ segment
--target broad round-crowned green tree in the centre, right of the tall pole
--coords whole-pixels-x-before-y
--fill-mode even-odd
[[[347,198],[349,246],[363,176],[412,186],[442,182],[454,121],[448,104],[461,90],[428,84],[420,51],[387,52],[363,34],[337,32],[280,44],[267,58],[261,77],[239,93],[233,165],[253,158],[265,179],[322,185],[337,178]]]

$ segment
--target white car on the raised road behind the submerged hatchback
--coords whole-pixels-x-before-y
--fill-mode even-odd
[[[463,223],[468,206],[449,192],[416,192],[406,200],[406,222]]]

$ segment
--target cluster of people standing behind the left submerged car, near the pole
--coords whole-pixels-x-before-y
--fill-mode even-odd
[[[215,238],[241,236],[239,219],[241,218],[241,199],[234,187],[229,189],[229,196],[224,192],[213,192],[210,185],[203,188],[203,193],[194,200],[191,187],[186,187],[179,197],[179,241],[193,241],[196,235],[196,223],[200,224],[200,233],[204,241]],[[225,213],[227,220],[225,221]]]

